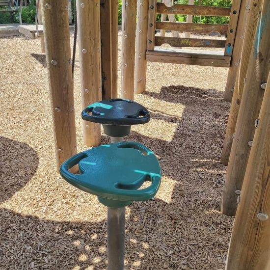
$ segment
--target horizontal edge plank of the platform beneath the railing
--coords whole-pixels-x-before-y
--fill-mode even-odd
[[[198,65],[198,66],[212,66],[212,67],[229,67],[229,59],[220,59],[218,58],[207,58],[209,55],[203,54],[179,54],[178,52],[173,54],[165,54],[164,52],[155,52],[155,51],[146,53],[146,60],[150,62],[161,62],[161,63],[171,63],[171,64],[183,64],[183,65]],[[201,57],[200,57],[201,56]],[[202,57],[204,56],[204,57]],[[212,55],[212,57],[215,57]]]

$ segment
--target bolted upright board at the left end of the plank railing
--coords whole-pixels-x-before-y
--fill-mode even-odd
[[[156,8],[157,8],[157,0],[149,0],[147,51],[154,51],[155,49],[155,30],[157,18]]]

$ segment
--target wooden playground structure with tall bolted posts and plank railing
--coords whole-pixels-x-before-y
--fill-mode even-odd
[[[225,100],[232,103],[221,161],[228,169],[220,206],[223,214],[236,217],[225,269],[268,269],[270,1],[234,0],[231,8],[192,9],[180,4],[168,7],[157,0],[136,2],[122,2],[122,98],[133,99],[134,89],[145,91],[149,61],[229,68]],[[41,0],[57,170],[77,152],[67,6],[67,0]],[[117,97],[117,0],[77,0],[77,14],[84,108]],[[156,22],[157,14],[230,16],[230,20],[229,25]],[[226,40],[157,36],[156,29],[217,31],[226,34]],[[164,43],[224,48],[224,53],[157,48]],[[100,144],[100,125],[83,121],[82,128],[87,146]]]

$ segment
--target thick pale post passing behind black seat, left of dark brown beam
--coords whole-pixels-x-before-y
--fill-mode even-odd
[[[101,100],[100,1],[77,0],[82,108]],[[101,142],[100,125],[82,120],[87,146]]]

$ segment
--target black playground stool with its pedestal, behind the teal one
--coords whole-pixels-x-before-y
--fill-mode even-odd
[[[131,126],[150,121],[149,111],[135,101],[110,99],[87,106],[81,113],[83,120],[103,125],[111,142],[123,141],[130,134]]]

